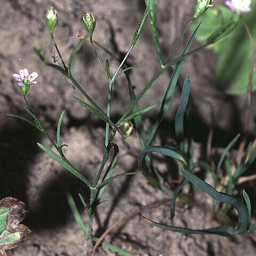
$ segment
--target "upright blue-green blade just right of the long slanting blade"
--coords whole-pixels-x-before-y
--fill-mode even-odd
[[[188,105],[190,87],[190,77],[187,76],[182,88],[180,105],[175,115],[175,135],[177,140],[180,142],[184,138],[184,115]],[[181,151],[183,151],[183,146]]]

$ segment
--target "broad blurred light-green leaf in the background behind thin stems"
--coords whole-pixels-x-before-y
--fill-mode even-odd
[[[250,32],[255,38],[255,15],[256,1],[252,1],[251,12],[244,14],[241,21],[238,22],[234,29],[231,28],[233,30],[228,35],[211,45],[212,49],[218,54],[217,67],[215,69],[216,85],[226,93],[241,94],[247,91],[253,51],[243,22],[249,26]],[[202,17],[202,25],[196,36],[199,41],[205,41],[214,30],[225,27],[225,24],[227,25],[228,22],[234,19],[233,13],[226,6],[218,6],[218,9],[210,8],[202,14]],[[196,23],[194,26],[196,26]],[[223,32],[221,36],[223,36]],[[255,89],[256,76],[254,75],[253,90]]]

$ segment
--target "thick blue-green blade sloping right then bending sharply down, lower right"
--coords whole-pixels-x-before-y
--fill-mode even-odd
[[[249,219],[248,219],[248,210],[245,204],[228,194],[221,193],[217,191],[215,188],[204,182],[203,180],[196,177],[191,172],[186,171],[183,167],[180,166],[179,168],[180,173],[188,179],[191,183],[193,183],[196,187],[202,189],[207,195],[211,196],[213,199],[218,200],[222,203],[230,204],[231,206],[235,207],[238,212],[238,224],[234,230],[234,234],[242,234],[247,231]]]

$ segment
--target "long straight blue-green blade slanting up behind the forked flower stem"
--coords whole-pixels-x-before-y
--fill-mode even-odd
[[[191,44],[193,43],[193,40],[194,40],[194,37],[196,35],[198,27],[199,27],[199,25],[197,26],[197,28],[195,29],[194,33],[189,38],[189,41],[188,41],[185,49],[183,50],[183,52],[181,54],[181,57],[183,55],[186,55],[189,52],[189,49],[191,47]],[[184,65],[184,60],[178,62],[176,67],[175,67],[175,69],[174,69],[174,71],[173,71],[173,73],[172,73],[169,85],[168,85],[168,87],[166,89],[166,92],[165,92],[165,95],[164,95],[164,99],[162,101],[161,108],[159,110],[159,113],[158,113],[158,116],[156,118],[156,121],[155,121],[155,124],[153,126],[153,129],[152,129],[152,131],[151,131],[151,133],[149,135],[148,142],[147,142],[146,146],[150,145],[151,141],[153,140],[153,138],[154,138],[154,136],[156,134],[156,131],[158,129],[159,124],[162,122],[165,114],[167,113],[167,110],[170,108],[170,104],[171,104],[171,100],[172,100],[172,95],[173,95],[175,86],[177,84],[178,78],[180,76],[180,72],[181,72],[181,69],[182,69],[183,65]]]

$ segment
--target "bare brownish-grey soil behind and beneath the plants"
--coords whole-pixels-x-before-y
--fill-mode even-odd
[[[196,1],[158,2],[157,21],[161,24],[158,26],[159,42],[166,56],[170,46],[192,17]],[[86,11],[92,12],[97,20],[94,39],[121,57],[129,49],[135,28],[145,10],[142,0],[1,1],[0,198],[12,196],[26,203],[28,213],[23,223],[32,231],[27,242],[7,251],[9,256],[90,255],[90,246],[77,226],[67,203],[67,191],[69,191],[75,197],[84,221],[87,221],[77,196],[78,193],[83,194],[84,197],[88,196],[83,183],[37,147],[36,142],[50,147],[49,141],[43,134],[25,122],[7,116],[8,113],[12,113],[27,117],[23,109],[24,102],[20,87],[13,81],[12,74],[19,73],[23,68],[27,68],[29,73],[36,71],[39,74],[38,83],[31,86],[27,96],[31,108],[52,136],[55,134],[59,115],[62,110],[65,110],[61,131],[62,142],[68,144],[65,154],[89,180],[95,177],[101,163],[100,139],[104,138],[105,126],[74,101],[73,96],[82,97],[77,90],[73,89],[68,79],[56,70],[45,66],[33,51],[34,46],[42,44],[44,56],[51,61],[54,46],[44,20],[50,6],[54,6],[58,11],[58,27],[55,29],[54,36],[65,61],[79,42],[77,35],[86,34],[82,20]],[[189,34],[178,47],[177,56],[188,38]],[[195,42],[195,45],[199,43]],[[102,60],[109,58],[101,50],[99,54]],[[215,60],[216,56],[211,50],[195,53],[186,60],[181,75],[184,79],[186,74],[189,74],[192,81],[191,132],[196,141],[196,157],[206,160],[206,142],[212,130],[214,131],[213,162],[220,157],[221,149],[242,131],[246,102],[245,95],[226,95],[216,89]],[[132,65],[144,63],[143,67],[131,71],[135,91],[139,93],[158,68],[148,21],[127,61]],[[116,66],[111,59],[110,64],[113,72]],[[106,109],[107,81],[89,43],[84,44],[75,58],[73,76],[90,97],[100,107]],[[140,101],[141,108],[152,104],[157,106],[143,115],[147,131],[154,123],[170,76],[170,71],[162,74]],[[125,77],[121,76],[117,79],[113,90],[112,118],[117,120],[122,115],[122,111],[129,106]],[[180,91],[177,89],[172,107],[159,127],[154,140],[155,145],[165,145],[174,140],[173,118],[179,97]],[[254,94],[252,97],[255,99]],[[255,100],[252,102],[253,113]],[[253,122],[251,126],[252,124]],[[253,129],[250,134],[254,135]],[[115,143],[120,150],[115,173],[137,170],[140,153],[137,133],[134,132],[127,139],[123,139],[118,134]],[[154,163],[164,174],[166,182],[179,178],[177,166],[174,163],[167,162],[165,158],[159,156],[155,156]],[[252,198],[255,195],[255,182],[247,182],[244,186]],[[244,186],[236,188],[237,194],[241,193]],[[146,209],[140,214],[175,226],[207,228],[216,225],[211,220],[209,198],[202,196],[193,187],[186,187],[185,191],[193,193],[199,205],[191,207],[178,204],[173,221],[170,218],[168,204],[151,209],[145,207]],[[95,214],[93,222],[95,235],[99,237],[114,222],[126,217],[140,206],[165,198],[166,195],[150,186],[141,174],[111,181],[103,198],[108,202],[99,205]],[[256,213],[254,203],[252,200],[253,220]],[[141,220],[140,214],[133,215],[122,225],[113,229],[105,241],[129,251],[132,255],[256,255],[255,243],[246,235],[234,238],[217,235],[182,235],[151,227]],[[100,246],[96,255],[116,254]]]

